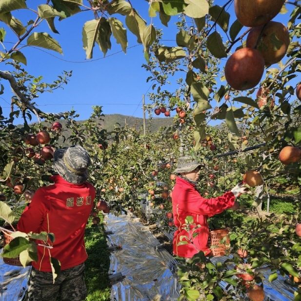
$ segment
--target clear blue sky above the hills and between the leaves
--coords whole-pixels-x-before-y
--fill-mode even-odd
[[[38,1],[35,1],[36,3]],[[40,2],[40,1],[39,1]],[[140,15],[150,23],[148,17],[148,3],[144,0],[132,0],[132,5],[138,10]],[[224,1],[217,0],[215,4],[222,5]],[[33,7],[34,8],[34,7]],[[287,5],[287,9],[291,11],[292,5]],[[230,24],[236,20],[233,4],[228,12],[231,14]],[[29,10],[20,10],[15,12],[15,17],[24,23],[29,18],[34,19],[35,15]],[[119,15],[117,18],[120,18]],[[275,20],[282,21],[286,24],[289,14],[278,15]],[[21,51],[27,58],[27,66],[25,69],[34,76],[43,76],[43,80],[51,82],[56,80],[57,76],[63,70],[72,70],[73,76],[64,89],[58,89],[54,93],[44,93],[37,99],[39,108],[45,112],[63,112],[74,108],[80,119],[87,119],[93,105],[102,105],[104,114],[124,114],[136,117],[142,117],[141,98],[142,94],[147,95],[151,92],[151,83],[146,82],[149,74],[141,68],[145,63],[143,57],[143,47],[137,46],[136,37],[128,30],[128,47],[127,53],[121,51],[119,44],[112,37],[112,49],[107,52],[103,58],[102,52],[98,45],[94,48],[93,59],[86,60],[85,52],[82,48],[82,26],[87,20],[92,20],[91,12],[83,12],[71,18],[62,21],[56,20],[56,27],[60,34],[50,32],[45,21],[37,28],[38,32],[46,31],[59,41],[63,55],[49,50],[39,50],[37,48],[25,47]],[[168,27],[161,24],[159,17],[153,19],[153,23],[163,28],[163,39],[175,40],[176,26],[175,22],[178,17],[172,17]],[[0,24],[2,27],[3,23]],[[222,34],[222,30],[218,31]],[[5,47],[10,49],[11,43],[15,42],[16,36],[7,30],[5,38]],[[174,41],[166,41],[166,45],[176,45]],[[132,47],[132,48],[130,48]],[[233,50],[235,47],[233,48]],[[3,64],[1,70],[7,70]],[[10,88],[4,80],[5,93],[1,95],[1,106],[4,115],[9,112],[9,103],[11,98]],[[165,87],[168,89],[168,87]],[[175,86],[171,85],[171,91],[175,90]],[[146,102],[148,102],[146,96]]]

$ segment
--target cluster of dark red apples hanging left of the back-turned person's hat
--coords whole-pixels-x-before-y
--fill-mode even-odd
[[[51,130],[55,132],[60,132],[61,128],[62,125],[58,121],[54,122],[51,126]],[[24,138],[24,141],[31,146],[44,145],[39,152],[36,152],[32,147],[27,147],[25,149],[25,156],[27,158],[33,158],[37,164],[42,165],[46,160],[51,160],[53,158],[55,149],[48,144],[50,142],[50,135],[47,131],[42,130],[37,134],[28,134]]]

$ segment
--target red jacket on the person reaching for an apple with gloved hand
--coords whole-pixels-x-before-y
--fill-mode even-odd
[[[232,192],[226,192],[221,197],[205,199],[202,198],[195,185],[180,177],[176,178],[176,184],[172,191],[172,206],[175,226],[178,228],[174,234],[173,252],[175,255],[192,258],[199,251],[203,251],[205,255],[210,253],[208,248],[209,227],[207,223],[208,217],[212,217],[234,205],[235,196]],[[188,241],[187,244],[178,245],[181,236],[188,236],[183,229],[185,218],[192,216],[197,225],[201,225],[198,229],[191,229],[191,241],[182,238],[182,241]],[[192,237],[193,233],[198,233]]]

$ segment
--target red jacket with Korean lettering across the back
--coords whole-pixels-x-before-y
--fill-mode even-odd
[[[88,182],[73,184],[60,176],[54,176],[53,180],[53,185],[36,191],[18,223],[18,230],[25,233],[54,233],[53,249],[38,246],[39,259],[32,263],[43,272],[51,272],[48,250],[51,257],[60,261],[61,270],[87,259],[83,236],[95,198],[95,189]]]

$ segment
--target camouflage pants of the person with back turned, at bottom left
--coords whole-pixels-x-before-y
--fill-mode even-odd
[[[51,272],[32,268],[24,301],[82,301],[87,296],[85,265],[60,271],[53,284]]]

